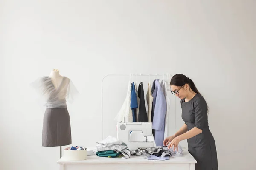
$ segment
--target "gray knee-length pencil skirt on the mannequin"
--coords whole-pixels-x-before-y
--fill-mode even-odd
[[[44,113],[42,146],[71,144],[70,116],[67,108],[47,108]]]

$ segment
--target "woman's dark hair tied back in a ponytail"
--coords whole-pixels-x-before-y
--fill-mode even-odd
[[[170,85],[175,85],[175,86],[180,86],[180,87],[185,85],[185,84],[188,84],[192,91],[201,95],[201,93],[196,88],[192,79],[190,79],[189,77],[187,77],[183,74],[175,74],[172,77],[171,82],[170,82]],[[208,111],[209,111],[209,108],[208,108],[208,105],[207,105],[207,113],[208,113]]]

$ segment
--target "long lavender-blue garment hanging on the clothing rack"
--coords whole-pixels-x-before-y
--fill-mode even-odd
[[[157,146],[163,146],[166,116],[166,99],[163,94],[163,89],[160,85],[159,79],[156,79],[155,81],[155,89],[152,96],[155,99],[153,100],[154,117],[152,122],[152,128],[155,130],[154,139]]]

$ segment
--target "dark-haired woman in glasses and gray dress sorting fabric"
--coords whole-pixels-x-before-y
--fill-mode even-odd
[[[185,124],[163,144],[178,149],[180,141],[187,139],[189,153],[196,159],[195,170],[218,170],[215,140],[208,126],[208,107],[194,82],[183,74],[172,77],[172,93],[181,99],[182,119]]]

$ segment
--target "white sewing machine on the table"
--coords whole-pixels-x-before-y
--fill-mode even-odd
[[[131,141],[131,131],[142,131],[145,141]],[[129,150],[145,149],[155,147],[155,142],[148,141],[148,136],[152,136],[152,123],[151,122],[119,122],[117,124],[117,138],[124,142]],[[152,138],[151,138],[152,139]],[[154,139],[154,138],[153,138]]]

